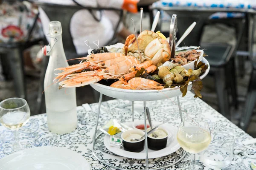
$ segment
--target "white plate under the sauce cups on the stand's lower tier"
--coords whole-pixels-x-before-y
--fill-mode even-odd
[[[153,122],[153,125],[157,125],[157,124],[160,124],[160,122],[158,122],[158,123]],[[127,123],[127,125],[132,127],[132,122]],[[177,151],[180,148],[180,145],[178,144],[177,139],[176,139],[176,134],[177,134],[177,130],[178,130],[177,127],[173,127],[170,125],[161,125],[160,127],[168,130],[168,132],[170,134],[168,141],[167,141],[167,146],[166,146],[166,148],[161,149],[161,150],[148,149],[148,158],[149,159],[159,158],[162,156],[169,155],[171,153],[174,153],[175,151]],[[122,148],[112,147],[112,146],[110,146],[110,137],[108,135],[105,135],[105,137],[104,137],[104,144],[108,150],[115,153],[116,155],[123,156],[126,158],[133,158],[133,159],[146,159],[145,148],[143,151],[141,151],[139,153],[134,153],[134,152],[129,152],[129,151],[124,150],[123,147]]]

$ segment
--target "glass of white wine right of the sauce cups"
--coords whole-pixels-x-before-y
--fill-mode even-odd
[[[205,150],[211,139],[211,131],[206,122],[186,119],[180,123],[177,141],[184,150],[192,154],[191,170],[195,170],[195,154]]]

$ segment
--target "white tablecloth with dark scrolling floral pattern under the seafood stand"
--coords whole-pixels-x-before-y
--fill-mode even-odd
[[[251,139],[252,137],[239,129],[236,125],[224,118],[220,113],[215,111],[201,99],[193,98],[193,94],[188,92],[183,98],[180,97],[181,107],[183,108],[183,116],[191,118],[202,119],[209,123],[211,130],[225,131],[234,136],[236,140],[234,154],[239,156],[244,161],[244,164],[250,169],[250,162],[256,164],[256,144],[244,146],[241,142]],[[141,107],[142,102],[135,102],[135,108]],[[151,112],[151,119],[163,122],[169,119],[169,125],[178,126],[180,123],[180,116],[177,107],[176,98],[147,102],[147,106]],[[21,142],[29,147],[40,146],[57,146],[66,147],[77,153],[90,162],[93,170],[113,170],[107,167],[93,156],[92,153],[92,139],[95,128],[96,113],[98,103],[84,104],[77,107],[79,123],[77,129],[64,135],[56,135],[49,132],[47,129],[46,114],[31,116],[29,122],[20,129]],[[103,125],[110,119],[119,119],[122,122],[131,122],[131,102],[123,100],[110,100],[102,103],[101,116],[99,118],[99,125]],[[143,119],[143,113],[135,112],[135,119]],[[118,167],[126,167],[128,169],[140,169],[145,166],[145,160],[127,159],[116,156],[107,150],[101,140],[98,138],[96,147],[100,151],[96,151],[97,156],[112,165]],[[0,126],[0,159],[13,152],[12,142],[14,142],[13,134],[10,130]],[[168,164],[173,159],[178,159],[179,155],[173,153],[169,156],[164,156],[157,159],[149,159],[150,167],[157,167],[163,164]],[[185,156],[182,161],[174,166],[164,170],[188,170],[189,158]],[[201,162],[201,154],[197,154],[196,165],[200,170],[213,170],[206,167]],[[225,170],[237,170],[235,164],[231,164]]]

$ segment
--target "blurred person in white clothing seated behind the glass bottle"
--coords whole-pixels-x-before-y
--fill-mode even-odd
[[[70,6],[79,5],[85,7],[122,8],[134,13],[137,12],[138,1],[139,0],[38,0],[38,2]],[[39,8],[39,12],[44,34],[47,35],[49,18],[41,8]],[[88,40],[88,43],[92,48],[96,47],[93,45],[93,41],[95,40],[99,40],[100,47],[107,45],[113,38],[114,29],[116,28],[118,21],[119,14],[115,11],[90,11],[87,9],[77,11],[73,15],[71,21],[67,21],[70,22],[70,33],[77,54],[87,54],[89,47],[84,45],[85,40]],[[126,39],[130,34],[132,33],[120,23],[117,29],[117,35],[122,39]],[[49,37],[47,37],[47,39],[49,41]]]

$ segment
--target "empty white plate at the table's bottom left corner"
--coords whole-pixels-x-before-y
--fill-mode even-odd
[[[0,170],[91,170],[90,164],[63,147],[33,147],[0,159]]]

